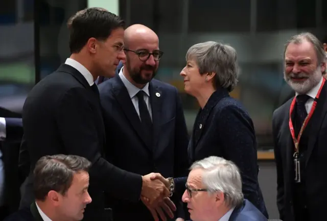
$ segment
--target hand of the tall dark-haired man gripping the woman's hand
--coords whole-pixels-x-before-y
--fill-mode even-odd
[[[152,176],[155,176],[157,179],[152,180]],[[160,173],[150,173],[142,176],[141,196],[145,196],[148,199],[148,205],[153,208],[157,207],[157,204],[168,197],[170,193],[166,183],[163,183],[161,180],[165,180],[165,178]]]

